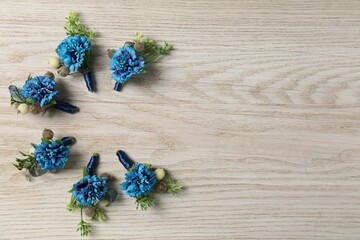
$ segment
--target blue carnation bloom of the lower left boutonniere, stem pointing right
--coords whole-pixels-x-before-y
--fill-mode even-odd
[[[44,171],[53,171],[65,167],[70,153],[70,146],[59,142],[45,143],[35,147],[34,156]]]

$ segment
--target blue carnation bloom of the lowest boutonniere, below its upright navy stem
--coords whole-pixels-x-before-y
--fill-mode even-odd
[[[73,185],[73,189],[72,194],[82,207],[95,206],[104,199],[108,190],[106,181],[96,175],[86,175]]]

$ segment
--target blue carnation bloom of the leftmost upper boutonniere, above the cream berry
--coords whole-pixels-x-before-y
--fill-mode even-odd
[[[31,98],[39,103],[41,107],[49,104],[59,91],[54,90],[56,82],[52,78],[37,76],[28,81],[23,86],[21,95],[25,98]]]

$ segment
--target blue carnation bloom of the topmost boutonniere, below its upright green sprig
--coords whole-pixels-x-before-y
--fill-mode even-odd
[[[60,61],[71,71],[77,72],[84,62],[85,53],[91,49],[91,42],[86,37],[65,38],[56,49]]]

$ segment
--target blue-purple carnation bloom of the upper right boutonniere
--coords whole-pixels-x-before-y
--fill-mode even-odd
[[[144,59],[136,56],[132,47],[119,48],[110,62],[110,70],[113,70],[112,78],[120,83],[126,82],[135,74],[144,70]]]

